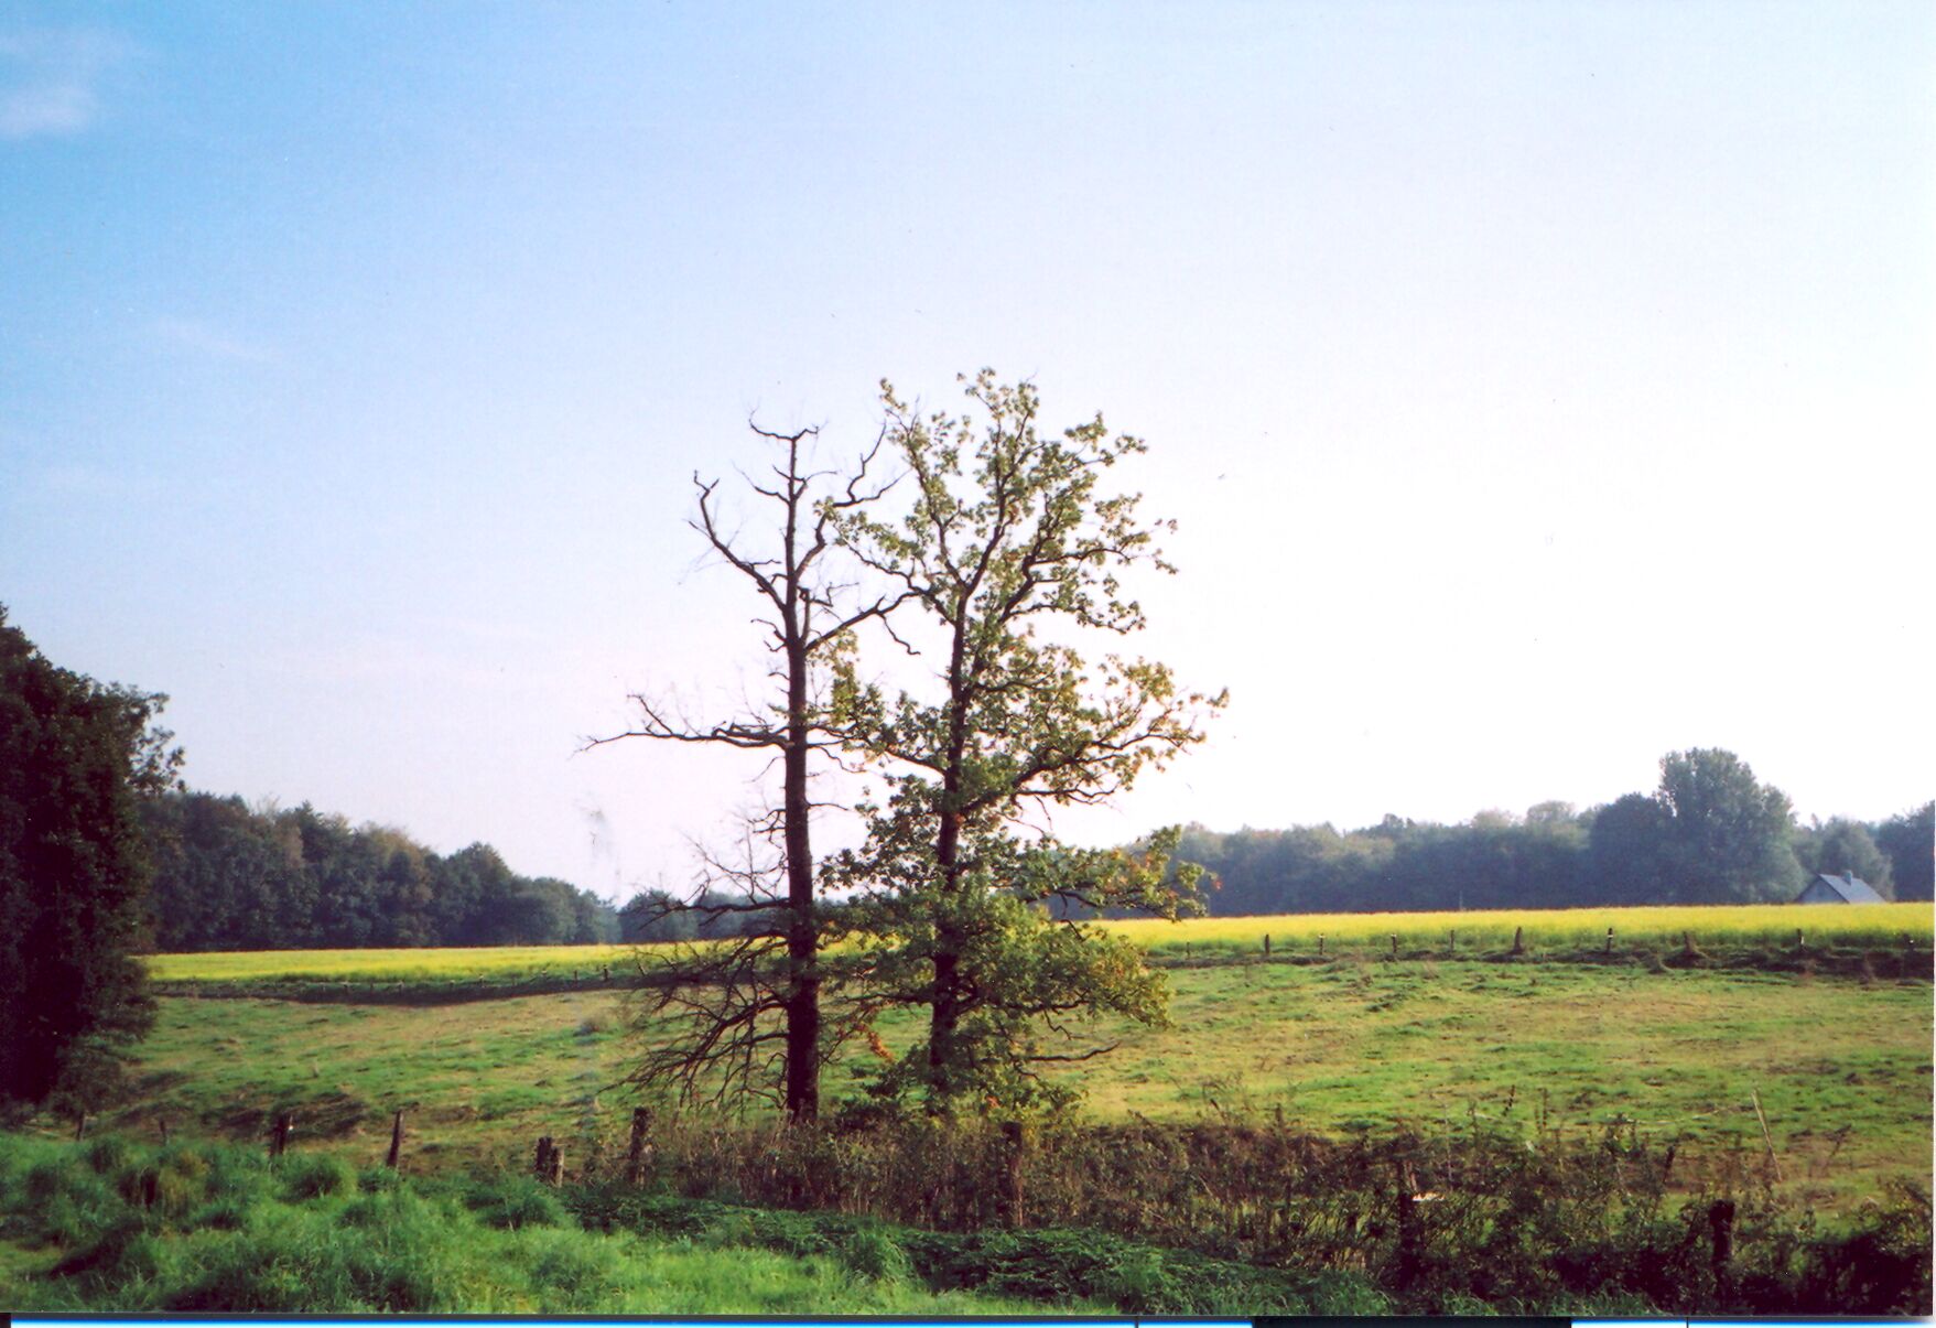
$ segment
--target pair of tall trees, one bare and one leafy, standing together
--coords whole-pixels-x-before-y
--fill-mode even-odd
[[[1193,912],[1196,873],[1167,861],[1175,832],[1084,850],[1030,813],[1129,788],[1200,741],[1224,697],[1073,645],[1142,629],[1121,573],[1171,571],[1162,523],[1105,486],[1144,445],[1100,416],[1044,432],[1034,385],[985,370],[964,381],[962,416],[920,414],[883,383],[881,438],[850,474],[811,468],[813,430],[755,428],[782,453],[771,482],[749,480],[772,517],[765,544],[726,534],[716,484],[695,476],[693,527],[765,602],[774,695],[697,724],[633,697],[639,722],[598,741],[767,751],[780,800],[747,825],[740,858],[709,863],[730,892],[664,902],[769,925],[654,972],[631,1076],[643,1088],[712,1105],[776,1098],[813,1119],[823,1065],[863,1038],[881,1096],[1026,1109],[1059,1096],[1045,1063],[1098,1053],[1076,1049],[1067,1020],[1164,1016],[1160,976],[1086,918]],[[881,681],[877,660],[908,681]],[[860,844],[827,861],[809,834],[817,763],[885,788],[854,807]],[[904,1009],[925,1014],[925,1036],[896,1057],[875,1024]]]

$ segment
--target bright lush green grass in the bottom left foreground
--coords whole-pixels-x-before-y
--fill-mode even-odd
[[[581,1227],[527,1177],[403,1179],[327,1154],[0,1134],[0,1305],[23,1311],[1040,1313],[933,1293],[869,1237],[776,1249],[753,1223]],[[1102,1309],[1059,1297],[1059,1309]]]

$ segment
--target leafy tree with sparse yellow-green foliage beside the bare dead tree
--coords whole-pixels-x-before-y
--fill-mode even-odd
[[[1026,815],[1129,788],[1200,741],[1198,718],[1222,699],[1179,691],[1162,664],[1086,658],[1051,639],[1144,625],[1119,577],[1169,567],[1138,498],[1100,488],[1144,445],[1102,416],[1044,436],[1034,385],[991,370],[968,397],[972,414],[922,416],[883,383],[910,507],[898,521],[842,517],[848,548],[920,610],[896,635],[937,662],[941,687],[887,697],[842,660],[836,720],[889,798],[863,809],[867,842],[836,879],[862,892],[840,920],[858,954],[844,968],[850,999],[929,1016],[889,1086],[937,1109],[989,1098],[1018,1109],[1057,1096],[1040,1065],[1067,1053],[1040,1038],[1104,1012],[1162,1018],[1162,983],[1140,956],[1071,910],[1175,918],[1195,885],[1165,875],[1173,832],[1142,854],[1074,850]]]

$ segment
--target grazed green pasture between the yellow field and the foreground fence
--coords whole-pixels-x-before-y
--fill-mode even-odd
[[[1847,1206],[1930,1169],[1928,981],[1810,980],[1638,966],[1222,964],[1167,974],[1173,1028],[1098,1030],[1088,1109],[1156,1121],[1243,1115],[1324,1134],[1632,1123],[1700,1158],[1762,1148],[1783,1187]],[[132,1129],[257,1134],[275,1109],[329,1146],[376,1156],[389,1113],[412,1150],[515,1160],[538,1134],[612,1134],[629,1098],[620,999],[602,991],[447,1007],[165,999],[137,1065]],[[914,1026],[887,1028],[894,1043]],[[827,1086],[852,1094],[836,1065]]]

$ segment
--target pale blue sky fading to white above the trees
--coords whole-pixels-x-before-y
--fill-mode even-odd
[[[681,881],[753,687],[683,519],[749,412],[1034,376],[1150,439],[1119,807],[1462,819],[1725,745],[1932,794],[1915,4],[10,6],[0,602],[199,788]],[[743,681],[741,681],[743,679]]]

